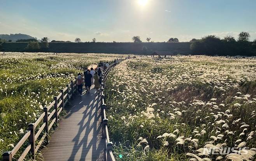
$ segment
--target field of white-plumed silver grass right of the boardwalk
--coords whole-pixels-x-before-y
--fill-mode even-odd
[[[118,161],[255,160],[256,59],[138,57],[106,88]]]

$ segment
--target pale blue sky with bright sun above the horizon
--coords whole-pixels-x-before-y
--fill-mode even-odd
[[[0,34],[74,42],[180,42],[206,35],[256,39],[256,0],[0,0]]]

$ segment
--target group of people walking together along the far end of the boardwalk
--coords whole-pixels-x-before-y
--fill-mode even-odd
[[[83,73],[77,74],[77,90],[79,95],[82,95],[82,87],[85,86],[86,93],[90,93],[91,85],[99,92],[100,84],[102,83],[103,71],[105,71],[110,64],[120,62],[121,59],[115,59],[112,62],[102,62],[94,68],[85,68]]]

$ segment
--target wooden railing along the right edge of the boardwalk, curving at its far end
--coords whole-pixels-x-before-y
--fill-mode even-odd
[[[103,78],[102,78],[102,83],[101,83],[101,121],[102,121],[102,138],[105,139],[104,143],[104,161],[116,161],[116,159],[114,158],[114,155],[112,153],[112,146],[113,143],[110,142],[109,139],[109,131],[108,131],[108,119],[106,116],[106,109],[107,106],[105,104],[105,95],[104,95],[104,87],[105,87],[105,82],[107,80],[107,74],[114,68],[114,66],[116,66],[119,62],[121,62],[122,60],[118,61],[118,62],[114,62],[113,64],[111,64],[104,72],[103,72]]]

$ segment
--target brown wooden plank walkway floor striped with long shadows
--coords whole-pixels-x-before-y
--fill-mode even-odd
[[[42,150],[44,161],[103,161],[100,96],[93,87],[72,100],[72,107]]]

